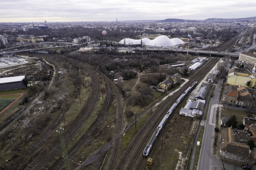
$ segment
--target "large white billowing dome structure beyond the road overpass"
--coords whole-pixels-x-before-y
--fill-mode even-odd
[[[134,40],[130,38],[125,38],[119,42],[119,44],[125,44],[125,45],[136,45],[136,44],[142,44],[145,46],[152,46],[152,47],[174,47],[175,45],[183,45],[184,42],[179,38],[172,38],[169,39],[167,36],[161,35],[154,40],[150,40],[148,38],[143,38],[140,40]]]

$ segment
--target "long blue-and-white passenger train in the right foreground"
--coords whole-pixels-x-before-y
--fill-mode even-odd
[[[157,126],[156,130],[154,131],[152,137],[150,138],[147,146],[144,149],[143,155],[147,156],[149,154],[149,151],[151,150],[153,144],[156,141],[157,136],[159,135],[160,131],[164,127],[166,121],[170,117],[170,115],[174,112],[176,107],[179,105],[179,103],[183,100],[183,98],[190,92],[191,89],[195,87],[197,82],[195,81],[192,85],[190,85],[182,94],[181,96],[177,99],[177,101],[171,106],[171,108],[168,110],[168,112],[165,114],[164,118],[160,122],[160,124]]]

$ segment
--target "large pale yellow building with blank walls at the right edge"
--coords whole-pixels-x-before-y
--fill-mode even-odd
[[[247,86],[246,83],[251,81],[251,85]],[[227,84],[241,85],[245,87],[254,87],[256,78],[248,70],[242,69],[229,69]]]

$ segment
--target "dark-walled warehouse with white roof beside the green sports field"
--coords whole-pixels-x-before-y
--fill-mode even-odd
[[[26,80],[27,76],[0,78],[0,91],[17,89],[17,88],[25,88],[26,85],[23,84],[22,82],[23,79]]]

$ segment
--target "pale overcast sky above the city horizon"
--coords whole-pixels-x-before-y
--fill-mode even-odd
[[[1,0],[0,22],[204,20],[256,16],[255,0]]]

